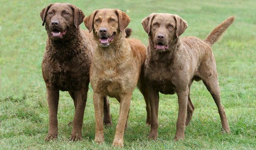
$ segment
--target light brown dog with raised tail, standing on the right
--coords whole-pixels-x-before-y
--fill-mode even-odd
[[[163,94],[176,92],[179,113],[174,140],[184,139],[185,125],[189,124],[194,111],[190,99],[190,87],[194,80],[201,79],[218,107],[222,128],[225,132],[230,132],[220,100],[218,74],[211,46],[234,19],[235,17],[226,19],[204,40],[191,36],[179,38],[188,25],[178,15],[152,13],[142,20],[142,26],[148,33],[149,39],[145,78],[151,106],[150,138],[158,137],[159,92]]]

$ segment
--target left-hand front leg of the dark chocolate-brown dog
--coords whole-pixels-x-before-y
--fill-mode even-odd
[[[49,109],[49,129],[48,135],[45,141],[56,139],[58,136],[58,102],[59,102],[59,90],[46,86],[47,103]]]

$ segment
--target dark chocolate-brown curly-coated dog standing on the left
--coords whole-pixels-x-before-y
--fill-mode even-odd
[[[46,141],[58,135],[59,90],[68,91],[75,105],[71,140],[82,138],[82,125],[87,91],[91,51],[95,42],[89,32],[81,31],[85,15],[76,6],[67,3],[50,4],[40,13],[48,34],[42,60],[42,75],[46,84],[49,107],[49,130]],[[108,99],[104,98],[104,123],[112,124]]]

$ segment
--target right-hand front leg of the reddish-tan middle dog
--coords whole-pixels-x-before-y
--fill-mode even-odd
[[[119,119],[117,126],[115,128],[115,137],[113,141],[113,146],[123,147],[123,134],[125,131],[125,124],[127,116],[129,113],[131,105],[132,93],[123,94],[120,96],[120,109],[119,109]]]

